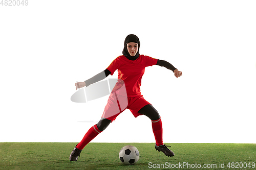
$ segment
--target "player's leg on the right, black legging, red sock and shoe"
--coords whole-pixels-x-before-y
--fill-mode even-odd
[[[152,105],[145,105],[138,111],[138,113],[146,115],[151,119],[152,130],[156,139],[155,149],[159,152],[162,151],[166,156],[174,156],[174,152],[169,150],[167,146],[163,144],[162,120],[158,111]]]

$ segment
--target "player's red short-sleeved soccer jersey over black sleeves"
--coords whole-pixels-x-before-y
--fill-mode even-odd
[[[140,55],[136,60],[129,60],[125,56],[119,56],[106,69],[111,71],[111,75],[114,74],[115,70],[118,70],[118,79],[124,81],[127,96],[133,97],[141,95],[140,85],[145,67],[156,63],[157,59],[144,55]]]

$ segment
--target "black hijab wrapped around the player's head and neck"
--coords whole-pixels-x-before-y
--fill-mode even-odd
[[[132,57],[127,50],[127,43],[129,43],[129,42],[135,42],[135,43],[138,43],[138,45],[139,45],[138,52],[136,53],[136,55],[134,57]],[[127,37],[124,40],[123,55],[129,60],[136,60],[140,56],[139,50],[140,50],[139,38],[134,34],[127,35]]]

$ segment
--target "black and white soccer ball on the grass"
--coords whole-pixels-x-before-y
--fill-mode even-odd
[[[123,147],[119,152],[119,159],[125,165],[135,164],[139,160],[139,157],[139,151],[132,145]]]

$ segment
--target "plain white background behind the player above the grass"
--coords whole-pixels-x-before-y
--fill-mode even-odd
[[[147,67],[141,91],[164,142],[255,143],[255,1],[31,1],[0,6],[0,141],[79,142],[108,97],[73,103],[129,34]],[[117,78],[117,71],[109,78]],[[93,121],[88,123],[86,121]],[[119,115],[93,142],[155,142],[151,121]]]

